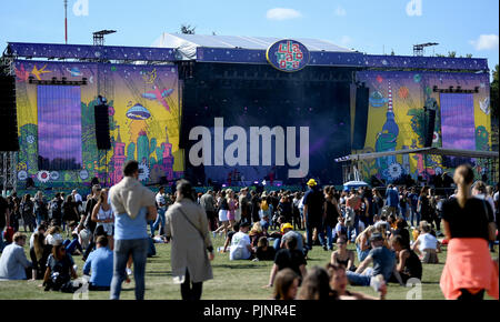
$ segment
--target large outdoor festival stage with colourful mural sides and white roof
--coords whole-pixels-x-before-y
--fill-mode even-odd
[[[1,161],[3,187],[109,187],[131,159],[150,187],[341,185],[334,159],[351,153],[422,148],[429,135],[432,147],[491,151],[486,59],[371,56],[312,39],[166,33],[156,46],[10,42],[19,151]],[[102,121],[110,149],[98,149]],[[391,182],[457,162],[387,155],[359,170]]]

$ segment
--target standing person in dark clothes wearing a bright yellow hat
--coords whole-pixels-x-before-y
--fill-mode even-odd
[[[323,193],[318,189],[318,183],[314,179],[308,181],[309,190],[303,197],[303,217],[306,219],[307,231],[307,248],[312,250],[312,231],[317,229],[318,238],[321,240],[321,245],[327,249],[323,232]]]

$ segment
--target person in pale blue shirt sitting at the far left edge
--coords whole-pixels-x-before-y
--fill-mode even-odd
[[[0,279],[27,280],[31,279],[31,262],[26,258],[26,234],[14,233],[13,242],[3,249],[0,256]]]

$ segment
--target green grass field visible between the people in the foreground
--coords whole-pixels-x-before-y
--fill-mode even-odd
[[[223,245],[223,238],[218,237],[212,242],[217,246]],[[28,243],[27,243],[28,244]],[[180,300],[179,285],[173,284],[170,270],[170,244],[156,244],[157,255],[148,259],[146,268],[146,299],[147,300]],[[353,249],[353,245],[349,245]],[[498,256],[497,252],[492,256]],[[26,246],[27,255],[28,245]],[[314,265],[324,266],[330,260],[330,251],[323,251],[321,246],[314,246],[309,252],[308,268]],[[78,265],[78,274],[81,276],[83,261],[81,255],[73,256]],[[439,254],[440,264],[423,264],[421,284],[422,300],[444,300],[439,288],[439,280],[446,260],[446,248]],[[356,263],[359,264],[358,262]],[[217,253],[212,262],[213,280],[203,283],[203,300],[268,300],[272,290],[263,289],[269,281],[272,262],[229,261],[229,253]],[[132,268],[133,269],[133,268]],[[38,288],[41,281],[2,281],[0,282],[1,300],[72,300],[73,294],[61,292],[44,292]],[[133,300],[134,282],[123,283],[121,299]],[[350,286],[350,290],[361,291],[376,295],[371,288]],[[398,284],[389,284],[388,300],[406,300],[411,289]],[[89,300],[109,299],[109,292],[88,293]],[[486,299],[491,299],[488,295]]]

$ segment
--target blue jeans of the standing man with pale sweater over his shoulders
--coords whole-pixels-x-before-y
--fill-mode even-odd
[[[136,281],[136,300],[144,299],[146,260],[148,258],[148,239],[116,240],[113,250],[113,278],[111,280],[110,299],[119,300],[121,283],[127,278],[127,261],[132,255],[133,279]]]

